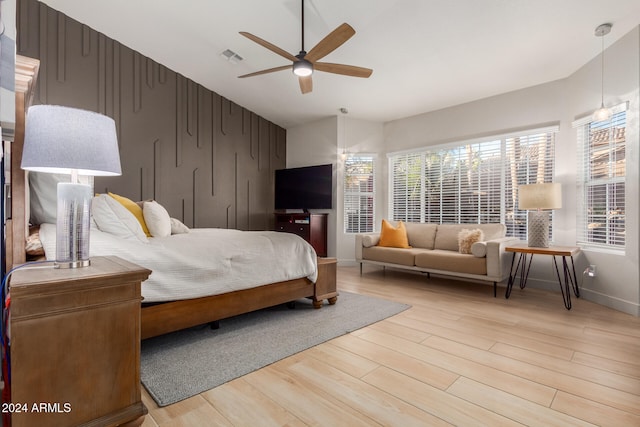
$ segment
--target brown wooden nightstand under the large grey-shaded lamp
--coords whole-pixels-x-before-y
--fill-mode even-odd
[[[12,426],[140,425],[141,282],[117,257],[11,276]]]

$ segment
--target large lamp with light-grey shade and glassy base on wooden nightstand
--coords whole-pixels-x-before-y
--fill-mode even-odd
[[[93,191],[78,175],[122,174],[113,119],[57,105],[29,108],[21,167],[71,175],[57,188],[56,267],[88,266]]]

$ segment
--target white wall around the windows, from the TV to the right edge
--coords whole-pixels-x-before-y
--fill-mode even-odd
[[[576,269],[578,275],[588,264],[596,264],[598,276],[585,278],[582,294],[585,298],[616,308],[636,316],[640,315],[640,27],[636,27],[605,52],[605,104],[616,105],[629,101],[627,112],[627,185],[626,226],[627,245],[624,254],[603,253],[585,250],[579,256]],[[563,186],[563,208],[555,212],[554,237],[556,244],[575,245],[576,236],[576,131],[571,123],[593,112],[600,105],[600,57],[594,58],[573,75],[565,79],[539,86],[521,89],[499,96],[481,99],[455,107],[429,112],[418,116],[384,123],[357,122],[354,129],[367,133],[382,131],[380,136],[369,134],[347,138],[357,145],[354,152],[378,153],[376,176],[377,221],[387,214],[387,156],[394,151],[407,150],[451,141],[462,141],[485,135],[506,133],[513,130],[530,129],[549,124],[559,124],[556,142],[556,182]],[[321,163],[315,144],[326,144],[326,159],[338,164],[337,154],[341,149],[339,118],[330,118],[311,125],[287,131],[287,162],[298,164]],[[331,125],[328,126],[327,124]],[[350,129],[354,120],[344,124]],[[324,125],[323,125],[324,124]],[[354,131],[355,132],[355,131]],[[316,134],[321,133],[321,134]],[[350,132],[347,132],[351,135]],[[330,153],[330,151],[332,151]],[[291,156],[291,157],[290,157]],[[331,157],[333,156],[333,157]],[[340,177],[341,177],[341,171]],[[334,181],[339,182],[341,181]],[[634,185],[635,183],[635,185]],[[342,188],[336,188],[336,197],[341,198]],[[334,208],[341,208],[341,201]],[[335,213],[336,221],[342,214]],[[353,262],[354,249],[351,236],[344,236],[341,222],[335,232],[332,248],[341,262]],[[331,246],[331,243],[330,243]],[[336,255],[334,255],[336,256]],[[529,284],[531,286],[558,289],[552,273],[550,259],[534,259]],[[582,277],[578,278],[582,282]]]

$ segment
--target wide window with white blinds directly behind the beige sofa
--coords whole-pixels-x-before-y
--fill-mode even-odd
[[[522,184],[551,182],[557,126],[389,156],[389,216],[408,222],[501,222],[526,239]]]

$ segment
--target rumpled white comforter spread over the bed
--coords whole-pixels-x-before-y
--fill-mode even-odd
[[[56,226],[42,224],[47,259],[55,259]],[[316,253],[302,238],[275,231],[191,229],[189,233],[124,240],[91,229],[90,255],[115,255],[148,268],[145,302],[222,294],[267,283],[317,278]]]

